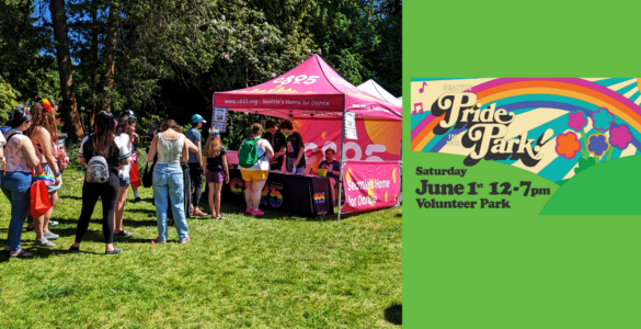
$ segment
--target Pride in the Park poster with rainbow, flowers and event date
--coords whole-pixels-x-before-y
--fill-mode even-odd
[[[412,202],[505,209],[536,200],[538,215],[641,214],[640,86],[638,78],[412,78],[411,151],[439,154],[411,169]]]

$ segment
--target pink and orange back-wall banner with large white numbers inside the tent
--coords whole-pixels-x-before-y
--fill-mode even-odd
[[[307,164],[318,169],[328,148],[341,158],[342,121],[297,118],[294,128],[305,141]],[[354,161],[398,161],[401,158],[402,122],[384,120],[356,120],[357,140],[345,140],[345,159]]]

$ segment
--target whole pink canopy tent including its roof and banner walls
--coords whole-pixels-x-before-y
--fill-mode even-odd
[[[340,191],[345,180],[347,184],[346,191],[348,193],[364,194],[363,202],[367,203],[370,206],[369,208],[384,207],[385,205],[382,204],[388,204],[387,206],[389,206],[393,198],[398,197],[388,193],[385,193],[385,196],[381,194],[379,197],[377,193],[385,190],[385,188],[376,191],[376,181],[393,181],[392,185],[397,185],[398,182],[400,189],[400,169],[397,170],[391,164],[398,167],[400,161],[401,106],[357,89],[339,76],[320,56],[313,55],[296,68],[267,82],[240,90],[215,92],[213,103],[214,106],[228,107],[230,111],[291,118],[296,129],[301,133],[306,141],[306,157],[308,159],[313,154],[322,152],[319,150],[317,143],[309,143],[310,139],[319,139],[322,137],[320,140],[325,140],[325,144],[334,139],[332,141],[334,144],[333,148],[336,149],[337,154],[342,155],[341,178],[343,179],[339,180]],[[358,143],[347,143],[347,146],[352,147],[354,152],[359,154],[363,150],[357,149],[356,146],[363,144],[364,140],[371,141],[370,145],[366,146],[365,154],[370,155],[371,152],[379,151],[381,154],[380,157],[369,157],[364,161],[362,156],[358,155],[356,159],[354,157],[350,159],[350,154],[345,148],[345,123],[343,120],[344,113],[347,111],[355,114],[358,134]],[[309,122],[316,124],[308,124],[307,127],[314,126],[314,129],[305,128],[305,131],[301,131],[305,123]],[[319,125],[320,123],[322,125]],[[393,129],[386,129],[385,127],[388,125],[393,125]],[[330,127],[331,129],[319,131],[319,126]],[[309,131],[313,131],[313,135],[308,134]],[[334,138],[339,136],[341,137],[340,148],[335,145],[337,140]],[[389,146],[381,148],[380,143],[388,144]],[[311,145],[311,147],[308,148],[308,145]],[[322,148],[327,147],[324,145]],[[393,154],[380,151],[381,149],[387,150],[390,148],[394,149]],[[398,156],[396,155],[397,149]],[[343,167],[347,164],[347,160],[348,164],[357,168],[348,168],[344,174]],[[381,166],[385,167],[386,164],[381,162],[389,162],[387,164],[391,166],[389,167],[391,175],[388,179],[376,174],[377,171],[380,171]],[[318,164],[318,161],[316,163]],[[392,175],[393,180],[391,179]],[[365,180],[371,180],[371,183],[364,182]],[[366,189],[370,188],[369,185],[374,186]],[[384,183],[382,185],[390,184]],[[356,202],[352,204],[350,196],[346,196],[350,201],[350,206],[347,208],[343,207],[341,212],[367,209],[367,206],[358,206],[358,198],[354,198]],[[381,201],[382,197],[385,197],[385,203]],[[390,202],[388,202],[388,198]],[[378,206],[376,205],[377,201],[380,201],[378,202]]]

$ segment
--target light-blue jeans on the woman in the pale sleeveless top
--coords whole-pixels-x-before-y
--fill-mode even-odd
[[[169,201],[179,239],[186,239],[188,231],[187,219],[185,218],[184,181],[181,164],[156,163],[152,182],[156,215],[158,217],[158,238],[167,241],[167,209],[169,207]]]

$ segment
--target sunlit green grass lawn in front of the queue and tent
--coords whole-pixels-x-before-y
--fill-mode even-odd
[[[80,216],[83,172],[66,171],[55,248],[34,247],[34,259],[0,254],[2,328],[386,328],[401,322],[402,208],[348,216],[340,223],[266,212],[244,216],[225,204],[227,220],[188,219],[192,240],[179,245],[174,227],[158,235],[151,189],[145,204],[125,205],[123,248],[104,256],[99,202],[83,253],[68,253]],[[129,201],[133,200],[129,191]],[[0,196],[0,241],[10,204]],[[208,212],[208,207],[205,207]],[[26,224],[25,224],[26,227]]]

